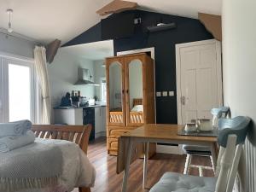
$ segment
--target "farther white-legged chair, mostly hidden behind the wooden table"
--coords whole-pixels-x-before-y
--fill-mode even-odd
[[[229,110],[230,110],[229,107],[212,108],[211,110],[211,113],[213,115],[212,124],[214,125],[218,124],[218,119],[225,118]],[[183,150],[187,154],[183,174],[188,174],[190,167],[198,168],[200,177],[203,176],[203,173],[202,173],[203,169],[213,170],[213,172],[215,172],[213,162],[212,162],[211,148],[203,147],[203,146],[195,146],[195,145],[183,145]],[[192,165],[191,160],[193,155],[210,157],[212,166]]]

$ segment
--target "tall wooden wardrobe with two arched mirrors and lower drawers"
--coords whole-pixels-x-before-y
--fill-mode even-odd
[[[109,57],[106,70],[107,146],[116,155],[122,133],[155,123],[154,61],[146,53]]]

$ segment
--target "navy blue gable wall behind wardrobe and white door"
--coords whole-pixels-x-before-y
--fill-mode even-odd
[[[199,20],[141,10],[134,12],[137,17],[142,18],[142,24],[136,27],[135,34],[131,38],[113,39],[114,52],[116,54],[124,50],[154,47],[155,90],[175,91],[175,96],[156,97],[157,123],[177,123],[175,44],[206,40],[212,38],[212,35],[207,32]],[[116,16],[121,17],[122,13],[111,15],[108,20]],[[146,32],[146,26],[153,26],[160,21],[175,22],[177,28],[163,32]],[[101,40],[101,23],[98,23],[63,46]]]

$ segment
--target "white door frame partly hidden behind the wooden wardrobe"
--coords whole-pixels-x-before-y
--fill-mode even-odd
[[[150,52],[151,58],[154,60],[154,93],[155,93],[155,59],[154,59],[154,47],[144,48],[144,49],[133,49],[133,50],[125,50],[117,52],[117,55],[130,55],[130,54],[136,54],[136,53],[145,53]],[[156,100],[155,100],[155,94],[154,94],[154,120],[156,122]]]

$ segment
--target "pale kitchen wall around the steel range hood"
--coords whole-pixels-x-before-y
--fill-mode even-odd
[[[93,61],[68,54],[63,49],[59,49],[57,55],[55,55],[55,60],[48,65],[53,107],[60,105],[61,97],[65,96],[67,91],[71,93],[72,90],[81,90],[81,96],[90,98],[95,96],[94,86],[74,85],[78,80],[79,67],[90,69],[90,73],[94,75]]]

